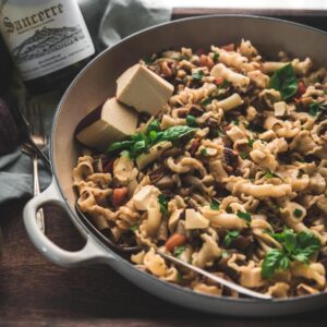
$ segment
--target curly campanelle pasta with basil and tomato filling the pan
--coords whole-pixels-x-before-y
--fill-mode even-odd
[[[81,156],[73,171],[81,210],[118,244],[140,245],[140,269],[239,296],[160,249],[275,298],[326,291],[326,69],[278,56],[243,39],[141,60],[173,95],[128,142],[108,140],[107,154]]]

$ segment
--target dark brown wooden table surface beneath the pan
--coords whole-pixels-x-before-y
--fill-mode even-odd
[[[175,9],[173,19],[206,13],[217,10]],[[292,19],[327,29],[326,12],[245,13]],[[146,293],[108,266],[57,267],[34,249],[26,235],[22,221],[25,202],[0,206],[4,243],[0,262],[0,326],[327,326],[327,310],[266,319],[205,315]],[[48,237],[57,244],[72,251],[83,246],[83,240],[60,209],[47,208],[46,223]]]

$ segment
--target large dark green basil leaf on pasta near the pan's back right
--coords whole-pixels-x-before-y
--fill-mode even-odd
[[[298,78],[291,63],[286,64],[272,74],[269,87],[279,90],[284,100],[296,93]]]

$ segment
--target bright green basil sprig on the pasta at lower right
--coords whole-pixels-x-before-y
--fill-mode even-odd
[[[296,234],[292,229],[284,229],[281,233],[269,234],[282,249],[272,249],[266,254],[262,265],[264,279],[271,279],[278,270],[287,270],[291,262],[308,264],[311,255],[322,247],[320,241],[310,231]]]

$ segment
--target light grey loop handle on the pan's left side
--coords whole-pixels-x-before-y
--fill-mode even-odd
[[[78,229],[86,239],[86,244],[82,250],[71,252],[56,245],[41,232],[36,222],[36,213],[45,204],[58,205],[70,215],[65,202],[59,194],[55,179],[47,190],[33,197],[25,205],[23,211],[25,228],[33,244],[49,261],[62,267],[76,267],[114,258],[110,252],[98,245],[83,228]]]

